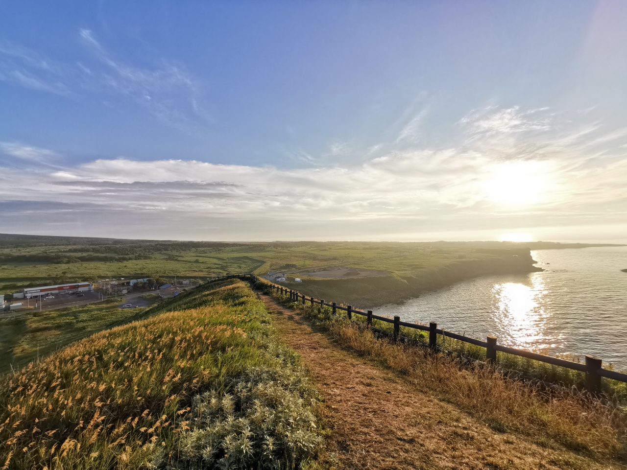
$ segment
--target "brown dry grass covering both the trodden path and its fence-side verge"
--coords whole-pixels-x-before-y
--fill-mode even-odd
[[[298,309],[298,323],[276,317],[278,330],[319,380],[346,467],[624,468],[624,415],[611,406],[461,368],[346,321],[307,323]]]

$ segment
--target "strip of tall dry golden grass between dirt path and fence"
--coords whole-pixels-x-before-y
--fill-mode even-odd
[[[627,460],[627,413],[611,401],[574,387],[547,390],[480,362],[379,339],[363,323],[331,315],[330,308],[290,303],[287,296],[266,292],[304,311],[340,345],[402,373],[418,390],[480,417],[495,431],[524,434],[542,446],[564,446],[600,459]]]

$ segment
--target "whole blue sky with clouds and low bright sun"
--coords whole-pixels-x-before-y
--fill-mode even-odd
[[[627,2],[0,0],[0,232],[627,243]]]

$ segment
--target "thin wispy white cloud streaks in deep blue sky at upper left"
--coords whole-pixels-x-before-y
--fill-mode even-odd
[[[130,65],[117,60],[93,31],[81,29],[79,37],[88,54],[76,63],[0,43],[0,80],[64,97],[130,99],[159,121],[186,131],[208,122],[202,86],[184,65],[163,59],[154,68]]]

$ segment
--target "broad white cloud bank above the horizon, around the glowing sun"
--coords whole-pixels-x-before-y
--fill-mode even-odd
[[[480,132],[483,137],[468,139]],[[624,138],[622,130],[604,130],[599,123],[566,131],[549,110],[494,108],[468,120],[461,145],[448,149],[399,146],[359,164],[335,158],[290,170],[183,159],[99,159],[56,170],[31,165],[0,172],[0,199],[80,201],[99,207],[103,217],[115,209],[138,217],[161,214],[175,224],[217,218],[236,227],[262,218],[288,226],[315,220],[317,230],[330,232],[338,221],[369,223],[373,231],[394,224],[415,231],[421,223],[477,228],[503,220],[581,224],[591,217],[610,224],[627,216]],[[599,147],[608,142],[611,147]],[[4,142],[0,150],[24,165],[57,158],[23,144]],[[354,149],[334,140],[327,152]]]

